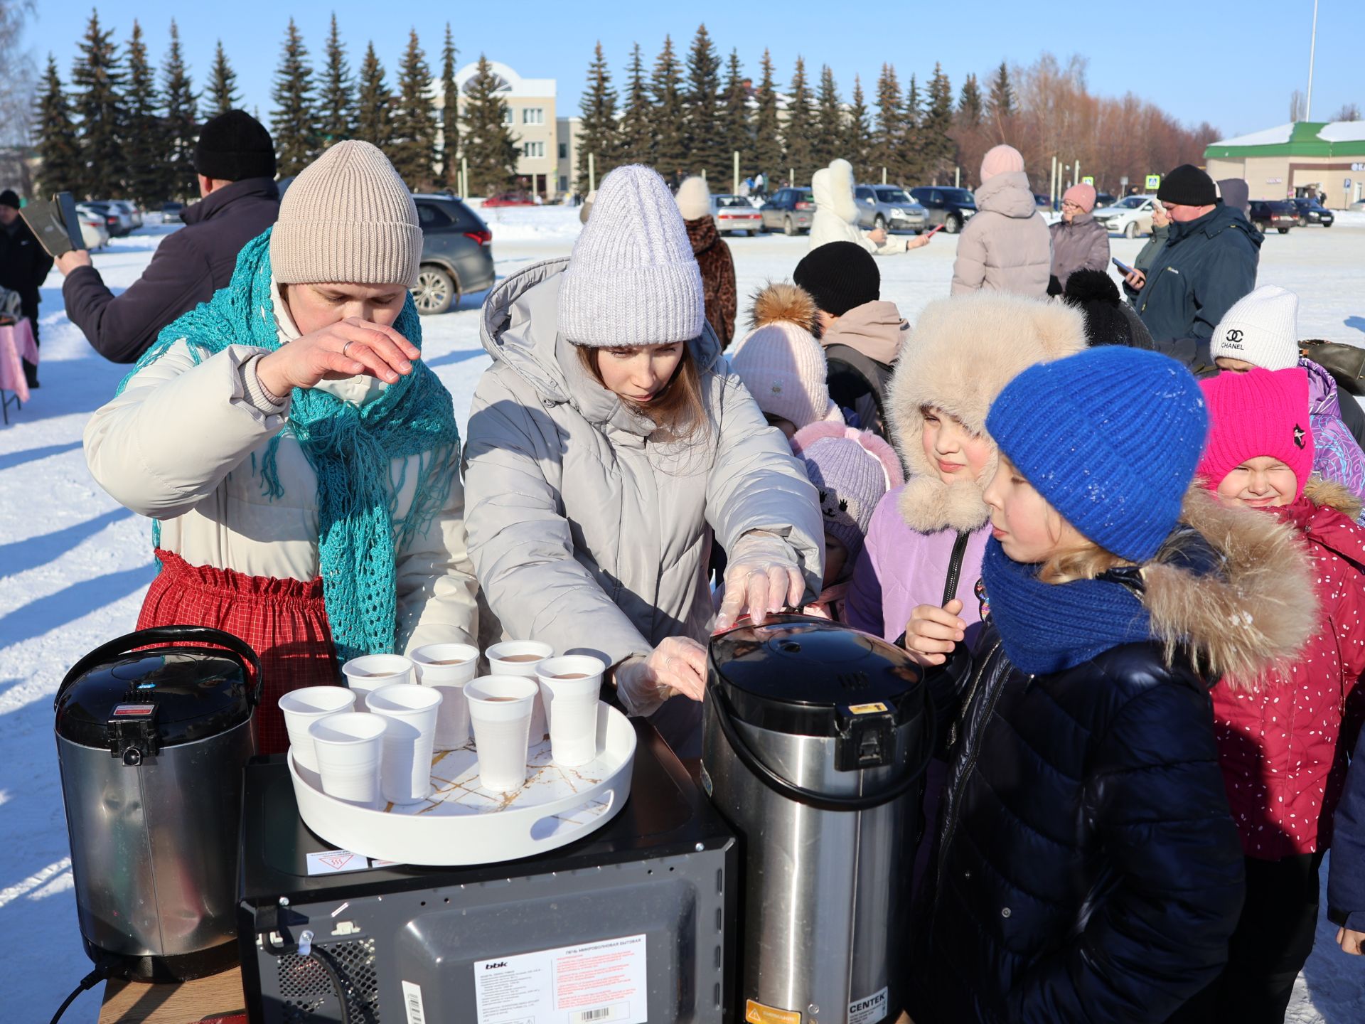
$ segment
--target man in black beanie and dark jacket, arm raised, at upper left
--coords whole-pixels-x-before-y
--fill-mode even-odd
[[[228,111],[207,124],[194,149],[201,202],[186,208],[186,227],[168,235],[130,288],[115,296],[85,250],[67,253],[57,268],[67,276],[67,315],[105,359],[138,360],[167,324],[206,302],[232,279],[242,247],[274,224],[274,145],[244,111]]]

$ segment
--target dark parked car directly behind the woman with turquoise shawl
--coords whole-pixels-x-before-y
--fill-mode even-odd
[[[418,194],[422,264],[412,302],[418,313],[434,315],[460,304],[460,296],[493,287],[493,232],[453,195]]]

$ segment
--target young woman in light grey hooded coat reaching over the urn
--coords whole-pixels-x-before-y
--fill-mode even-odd
[[[721,359],[654,171],[607,175],[573,254],[489,296],[482,340],[465,526],[504,634],[601,657],[627,710],[651,714],[702,699],[713,625],[819,594],[815,487]],[[713,534],[729,554],[714,623]],[[657,718],[684,756],[699,709]]]

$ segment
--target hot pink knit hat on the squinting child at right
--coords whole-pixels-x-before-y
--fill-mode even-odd
[[[1198,475],[1218,490],[1248,459],[1279,459],[1298,481],[1298,497],[1313,471],[1313,427],[1308,422],[1308,371],[1287,370],[1220,373],[1200,381],[1208,404],[1208,446]]]

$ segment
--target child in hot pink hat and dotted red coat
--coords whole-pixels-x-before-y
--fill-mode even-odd
[[[1224,373],[1201,382],[1211,430],[1198,472],[1228,508],[1294,528],[1312,561],[1310,591],[1276,579],[1280,598],[1314,616],[1308,644],[1260,673],[1213,688],[1219,760],[1246,855],[1246,905],[1219,982],[1181,1020],[1283,1021],[1313,948],[1319,864],[1346,776],[1343,715],[1365,669],[1365,530],[1339,483],[1310,478],[1308,375],[1299,367]],[[1272,578],[1293,552],[1275,552]],[[1267,612],[1257,616],[1264,620]]]

